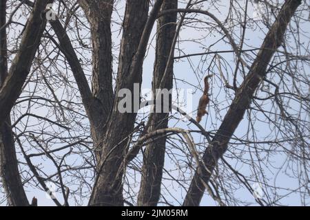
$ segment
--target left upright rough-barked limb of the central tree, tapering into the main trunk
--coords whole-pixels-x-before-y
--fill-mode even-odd
[[[112,109],[112,33],[114,0],[81,0],[92,34],[92,112],[88,112],[96,159],[101,155],[105,122]]]

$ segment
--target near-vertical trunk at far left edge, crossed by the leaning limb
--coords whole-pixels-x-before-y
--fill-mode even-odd
[[[0,27],[6,24],[6,0],[0,1]],[[8,76],[6,28],[0,31],[0,88]],[[29,206],[17,163],[10,116],[0,126],[0,176],[9,206]]]

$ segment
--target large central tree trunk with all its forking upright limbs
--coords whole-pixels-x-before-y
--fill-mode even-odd
[[[83,104],[88,117],[90,118],[92,137],[94,146],[96,147],[96,157],[99,161],[98,175],[94,184],[94,190],[90,198],[89,204],[92,206],[120,206],[123,205],[123,185],[121,178],[123,170],[120,169],[120,164],[123,162],[124,154],[127,151],[127,135],[134,128],[136,113],[120,113],[118,111],[118,102],[121,98],[114,97],[114,105],[112,112],[110,111],[111,96],[105,94],[103,83],[110,82],[107,74],[110,69],[108,63],[111,55],[111,32],[110,32],[110,16],[112,13],[112,5],[107,3],[112,1],[79,1],[87,19],[90,22],[92,30],[93,44],[93,94],[90,96],[89,88],[85,83],[83,69],[79,65],[79,61],[74,56],[74,50],[70,44],[70,39],[65,34],[59,21],[52,22],[52,28],[56,32],[61,43],[60,47],[65,54],[76,83],[81,91]],[[141,85],[142,80],[142,65],[147,41],[152,26],[156,19],[156,14],[161,6],[162,0],[156,1],[154,13],[150,15],[151,19],[147,20],[147,12],[149,1],[132,1],[126,3],[125,20],[123,22],[123,38],[121,43],[121,52],[118,64],[118,76],[116,79],[116,94],[117,91],[123,88],[130,89],[133,92],[134,83]],[[156,5],[159,5],[156,6]],[[101,8],[101,10],[98,10]],[[93,10],[92,10],[93,9]],[[105,11],[106,9],[107,11]],[[100,14],[102,13],[102,14]],[[99,18],[101,17],[101,19]],[[147,23],[148,22],[148,23]],[[105,23],[105,24],[103,24]],[[145,25],[147,23],[147,25]],[[147,26],[146,30],[145,26]],[[109,48],[107,48],[109,47]],[[101,65],[99,63],[101,63]],[[106,68],[107,67],[107,68]],[[101,73],[104,72],[105,73]],[[100,74],[101,73],[101,74]],[[106,77],[106,78],[105,78]],[[107,79],[107,80],[104,80]],[[112,78],[111,78],[112,79]],[[110,89],[109,89],[110,90]],[[103,92],[103,94],[101,94]],[[100,96],[101,94],[102,96]],[[112,94],[112,93],[111,93]],[[99,100],[99,102],[97,101]],[[101,105],[103,103],[103,105]],[[102,112],[102,115],[100,114]],[[110,120],[105,124],[107,115],[110,115]],[[106,132],[105,132],[106,131]],[[124,141],[125,140],[125,141]],[[116,147],[117,146],[117,147]]]

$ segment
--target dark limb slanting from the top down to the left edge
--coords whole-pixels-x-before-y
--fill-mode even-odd
[[[0,125],[10,115],[15,101],[21,94],[21,88],[30,72],[34,55],[37,52],[41,36],[45,30],[46,19],[44,11],[46,5],[51,2],[50,0],[42,0],[36,1],[34,4],[34,9],[25,27],[19,51],[14,57],[8,77],[6,77],[0,89]]]

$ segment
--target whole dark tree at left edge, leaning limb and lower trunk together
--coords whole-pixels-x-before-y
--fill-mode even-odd
[[[37,1],[28,19],[23,40],[8,74],[6,28],[0,31],[0,174],[10,206],[29,206],[19,175],[10,111],[21,94],[46,21],[43,11],[50,1]],[[42,16],[43,15],[43,16]],[[0,3],[0,27],[6,24],[6,1]]]

